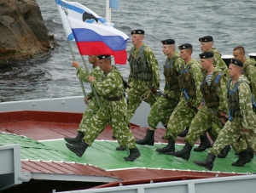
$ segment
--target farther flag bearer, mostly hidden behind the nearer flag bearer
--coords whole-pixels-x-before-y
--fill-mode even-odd
[[[98,58],[96,57],[96,55],[89,55],[88,60],[89,63],[92,64],[92,70],[90,71],[90,75],[92,77],[95,77],[97,81],[102,81],[103,71],[99,66]],[[75,67],[77,69],[77,77],[79,77],[80,80],[84,82],[89,82],[87,78],[87,71],[83,70],[83,68],[79,65],[78,61],[73,61],[72,67]],[[90,85],[90,87],[92,90],[92,85]],[[88,100],[90,100],[90,103],[88,103]],[[84,111],[84,115],[79,124],[78,135],[75,138],[64,138],[67,143],[72,145],[79,145],[81,143],[82,139],[84,138],[84,133],[86,132],[86,129],[90,128],[90,120],[92,116],[96,115],[96,112],[99,110],[99,105],[97,105],[96,101],[96,95],[93,91],[91,91],[90,94],[87,94],[84,102],[87,105],[87,109],[86,111]]]

